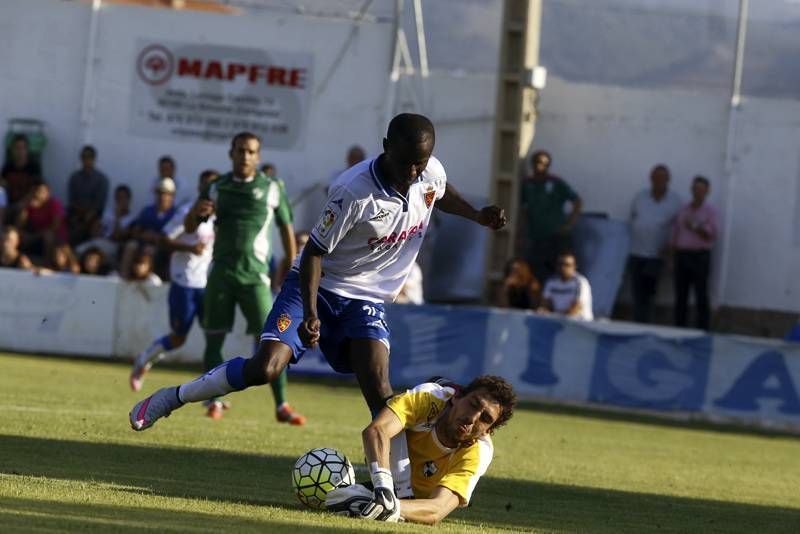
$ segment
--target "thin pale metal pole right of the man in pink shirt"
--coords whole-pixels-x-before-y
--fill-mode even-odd
[[[736,185],[736,172],[734,161],[736,160],[736,130],[739,124],[739,111],[742,105],[742,72],[744,70],[744,51],[745,38],[747,36],[748,20],[748,0],[739,0],[739,21],[736,32],[736,58],[733,67],[733,82],[731,87],[731,103],[728,110],[728,131],[725,140],[725,176],[728,179],[725,188],[725,226],[722,229],[722,258],[717,283],[717,303],[721,304],[725,298],[725,290],[728,285],[729,265],[731,262],[731,239],[733,236],[732,224],[735,219],[736,210],[734,203],[734,193]]]

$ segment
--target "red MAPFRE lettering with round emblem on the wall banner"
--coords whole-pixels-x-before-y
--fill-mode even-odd
[[[173,75],[179,78],[219,80],[232,82],[244,80],[250,84],[265,84],[279,87],[304,89],[306,69],[218,61],[197,57],[178,57],[165,46],[154,44],[142,49],[136,61],[139,77],[150,85],[161,85]]]

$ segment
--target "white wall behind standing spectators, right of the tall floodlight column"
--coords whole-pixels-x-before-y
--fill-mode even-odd
[[[687,201],[692,178],[707,176],[722,232],[730,233],[727,255],[723,239],[715,250],[716,303],[800,311],[800,104],[746,100],[735,122],[730,173],[728,113],[719,94],[551,77],[532,148],[552,153],[553,172],[573,185],[586,211],[622,220],[656,163],[669,165],[671,187]],[[727,277],[721,276],[725,257]]]

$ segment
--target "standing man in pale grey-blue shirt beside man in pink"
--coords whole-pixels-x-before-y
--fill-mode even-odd
[[[628,268],[633,290],[633,318],[639,323],[649,323],[653,318],[653,304],[672,223],[683,204],[680,197],[669,190],[669,178],[666,165],[653,167],[650,188],[640,191],[631,204]]]

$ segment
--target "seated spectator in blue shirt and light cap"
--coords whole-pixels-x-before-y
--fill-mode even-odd
[[[130,278],[131,265],[136,253],[144,247],[152,255],[158,252],[158,244],[164,237],[164,227],[175,215],[175,182],[162,178],[155,188],[156,201],[145,207],[129,226],[129,240],[125,243],[120,260],[120,275]],[[166,267],[166,258],[163,266]]]

